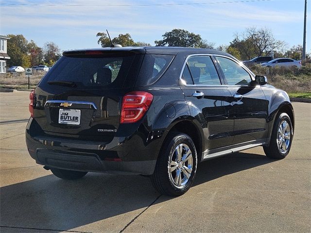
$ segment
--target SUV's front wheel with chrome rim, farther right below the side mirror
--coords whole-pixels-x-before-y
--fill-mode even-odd
[[[269,158],[284,159],[291,150],[293,141],[293,126],[291,118],[286,113],[278,113],[273,126],[270,144],[263,147]]]

